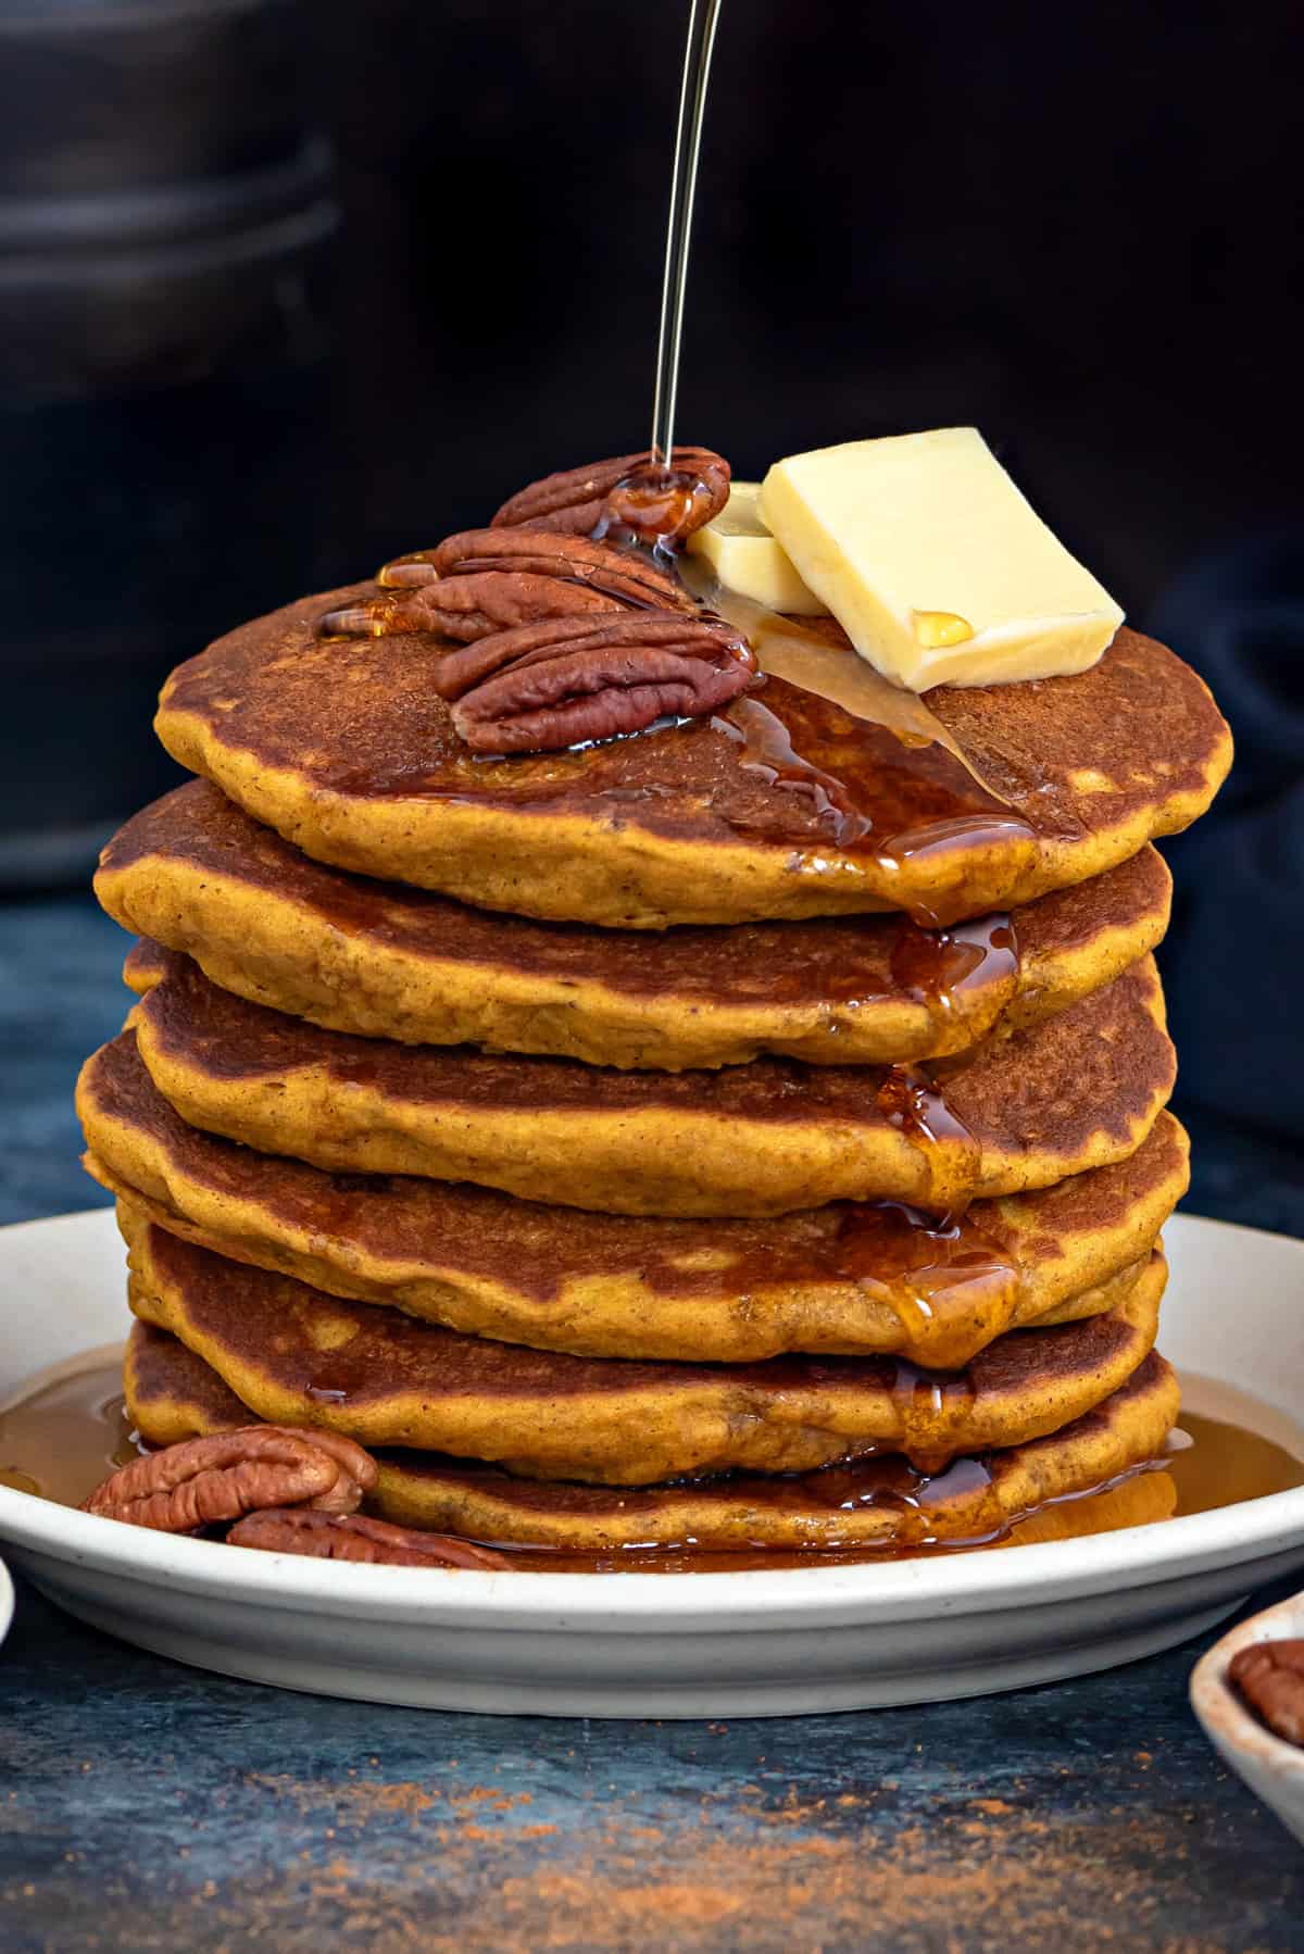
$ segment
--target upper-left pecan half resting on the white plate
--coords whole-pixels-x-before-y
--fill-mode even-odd
[[[147,1452],[111,1473],[82,1507],[129,1526],[194,1534],[258,1507],[352,1512],[375,1477],[375,1460],[352,1438],[246,1424]]]

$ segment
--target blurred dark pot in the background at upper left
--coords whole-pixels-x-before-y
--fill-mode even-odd
[[[172,778],[160,678],[334,557],[299,0],[0,14],[0,885]]]

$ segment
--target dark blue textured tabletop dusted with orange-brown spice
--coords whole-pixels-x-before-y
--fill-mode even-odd
[[[98,1198],[70,1083],[121,950],[88,899],[0,911],[0,1219]],[[1304,1233],[1298,1159],[1196,1141],[1193,1208]],[[205,1677],[22,1589],[0,1948],[1304,1948],[1304,1854],[1191,1718],[1196,1653],[782,1723],[489,1720]]]

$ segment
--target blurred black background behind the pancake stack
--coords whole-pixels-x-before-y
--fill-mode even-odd
[[[0,877],[250,612],[647,436],[686,6],[0,14]],[[1304,1231],[1300,16],[725,0],[680,434],[976,422],[1239,739],[1171,848],[1198,1206]],[[31,909],[12,897],[0,928]]]

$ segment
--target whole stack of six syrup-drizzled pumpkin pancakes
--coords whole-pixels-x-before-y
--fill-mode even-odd
[[[104,852],[137,1004],[78,1112],[141,1436],[342,1432],[383,1518],[606,1563],[1159,1516],[1198,678],[1124,629],[903,735],[790,662],[483,758],[391,588],[180,666],[199,778]]]

